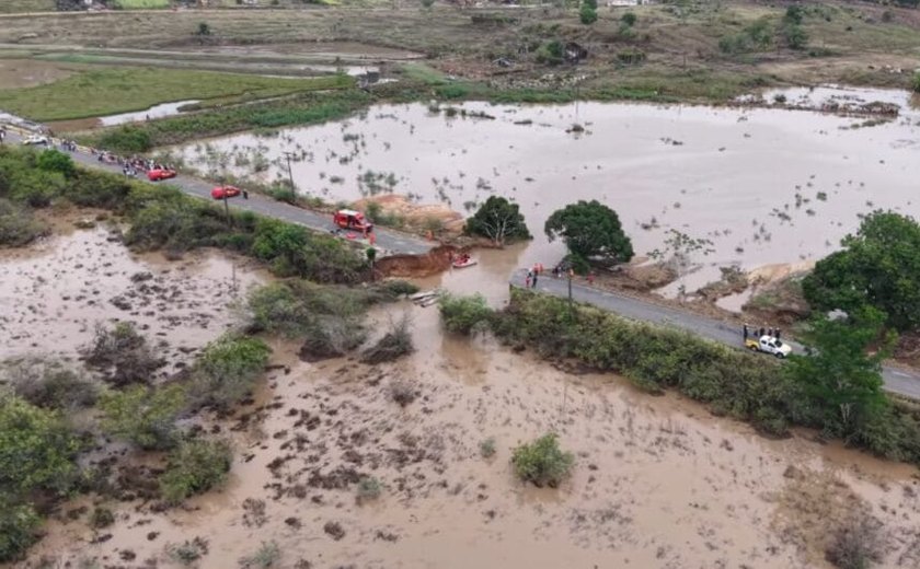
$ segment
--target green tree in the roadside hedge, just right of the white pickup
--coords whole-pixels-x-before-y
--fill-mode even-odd
[[[850,436],[884,411],[882,361],[895,341],[894,333],[882,333],[884,322],[881,311],[865,306],[847,318],[816,316],[800,335],[805,355],[791,355],[783,373],[798,385],[825,430]]]

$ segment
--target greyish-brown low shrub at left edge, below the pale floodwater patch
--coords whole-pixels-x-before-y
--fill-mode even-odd
[[[95,384],[60,362],[24,359],[12,362],[0,374],[0,383],[37,407],[69,410],[95,403]]]

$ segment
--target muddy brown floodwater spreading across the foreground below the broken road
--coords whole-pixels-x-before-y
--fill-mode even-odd
[[[433,307],[373,320],[404,312],[417,351],[393,364],[303,363],[277,345],[288,370],[222,423],[237,448],[223,489],[161,513],[107,503],[116,523],[99,532],[60,515],[24,566],[174,567],[169,545],[199,537],[208,568],[268,541],[298,568],[820,568],[827,527],[858,508],[884,524],[882,567],[920,564],[916,468],[804,436],[766,440],[613,375],[448,337]],[[396,387],[414,400],[396,404]],[[574,475],[559,489],[521,484],[511,449],[551,430]],[[363,477],[379,498],[357,500]]]

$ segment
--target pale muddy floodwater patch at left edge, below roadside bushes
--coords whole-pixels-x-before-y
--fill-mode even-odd
[[[127,321],[171,363],[232,323],[228,304],[266,275],[250,262],[191,253],[133,255],[103,228],[0,252],[0,360],[76,357],[97,324]]]

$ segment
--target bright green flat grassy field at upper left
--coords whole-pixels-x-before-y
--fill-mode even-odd
[[[67,120],[142,111],[171,101],[265,98],[353,84],[354,80],[342,76],[281,79],[177,69],[100,68],[35,88],[0,90],[0,108],[35,120]]]

